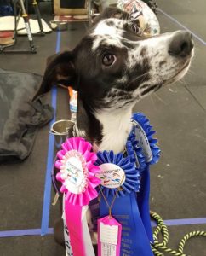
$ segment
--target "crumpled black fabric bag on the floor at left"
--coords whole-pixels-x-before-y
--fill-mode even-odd
[[[40,98],[31,102],[41,80],[34,73],[0,69],[0,163],[26,159],[38,127],[54,116],[53,108]]]

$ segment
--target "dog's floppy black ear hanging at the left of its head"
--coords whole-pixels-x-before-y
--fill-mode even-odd
[[[52,86],[76,84],[76,72],[72,52],[66,51],[48,58],[47,67],[43,74],[42,84],[33,99],[48,92]]]

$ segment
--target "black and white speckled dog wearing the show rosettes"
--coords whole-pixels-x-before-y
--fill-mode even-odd
[[[140,37],[128,19],[118,9],[106,9],[75,49],[50,61],[37,92],[41,95],[53,84],[72,84],[78,92],[75,132],[92,143],[94,151],[122,152],[136,102],[183,78],[191,64],[189,32]],[[64,244],[60,226],[54,230]]]

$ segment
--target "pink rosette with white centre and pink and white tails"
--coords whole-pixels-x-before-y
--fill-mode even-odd
[[[67,246],[70,243],[67,254],[93,256],[86,211],[89,201],[98,196],[95,188],[100,179],[95,175],[100,168],[94,166],[97,155],[91,152],[92,145],[81,137],[66,139],[61,148],[55,167],[60,169],[56,179],[62,183],[60,191],[64,193],[63,216],[70,240],[66,241]]]

